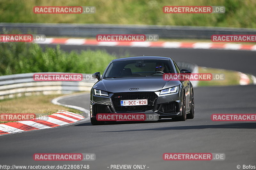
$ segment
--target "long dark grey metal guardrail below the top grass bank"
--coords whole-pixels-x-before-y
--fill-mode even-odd
[[[20,33],[45,34],[57,37],[96,37],[97,34],[158,34],[159,38],[211,39],[212,34],[256,34],[256,29],[197,27],[197,26],[151,26],[113,24],[35,24],[0,23],[0,33],[19,30]]]

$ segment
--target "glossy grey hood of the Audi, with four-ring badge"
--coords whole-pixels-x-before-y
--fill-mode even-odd
[[[104,78],[98,81],[93,88],[107,92],[155,92],[161,89],[180,85],[180,81],[166,81],[162,77],[125,77]],[[130,88],[139,88],[131,91]]]

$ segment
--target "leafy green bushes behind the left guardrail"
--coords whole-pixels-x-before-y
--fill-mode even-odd
[[[65,52],[58,45],[45,48],[38,44],[0,43],[0,75],[29,72],[76,72],[104,71],[115,58],[104,50]]]

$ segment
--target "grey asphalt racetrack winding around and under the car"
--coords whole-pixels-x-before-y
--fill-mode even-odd
[[[134,56],[171,56],[175,61],[256,75],[256,51],[66,45],[61,48],[99,48],[118,56],[126,52]],[[212,114],[255,114],[256,86],[196,87],[194,92],[195,118],[185,122],[160,120],[92,126],[89,120],[83,120],[69,126],[1,136],[1,165],[87,164],[92,170],[107,170],[111,165],[121,164],[146,165],[148,170],[235,170],[237,165],[241,169],[243,165],[256,166],[256,123],[211,121]],[[89,110],[89,98],[89,93],[83,93],[59,102]],[[166,152],[225,153],[226,159],[167,161],[162,158]],[[34,153],[95,153],[96,160],[34,161]]]

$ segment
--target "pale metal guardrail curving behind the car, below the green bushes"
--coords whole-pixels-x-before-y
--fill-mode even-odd
[[[197,72],[197,65],[192,63],[177,62],[180,69]],[[61,72],[44,72],[61,73]],[[82,81],[34,81],[34,73],[12,74],[0,76],[0,100],[6,98],[28,96],[32,94],[67,94],[70,92],[90,91],[96,78],[92,74],[83,74]],[[197,82],[191,82],[196,86]]]

